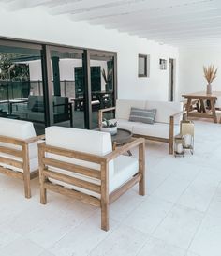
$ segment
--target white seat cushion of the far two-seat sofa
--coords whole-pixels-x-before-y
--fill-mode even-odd
[[[132,132],[134,134],[147,135],[169,139],[169,124],[155,123],[154,125],[137,123],[134,124]],[[174,135],[179,133],[179,126],[174,126]]]

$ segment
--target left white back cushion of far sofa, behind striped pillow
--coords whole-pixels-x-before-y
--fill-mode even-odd
[[[144,109],[144,100],[117,99],[116,101],[116,118],[129,120],[131,107]]]

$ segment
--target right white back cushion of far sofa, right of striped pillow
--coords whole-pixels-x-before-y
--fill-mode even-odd
[[[184,107],[183,102],[169,102],[169,101],[146,101],[146,109],[156,109],[155,122],[169,124],[169,116],[182,112]],[[175,124],[179,124],[182,116],[174,119]]]

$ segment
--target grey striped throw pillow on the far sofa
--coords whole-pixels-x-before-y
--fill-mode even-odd
[[[154,124],[155,123],[155,113],[156,109],[152,110],[143,110],[138,108],[130,109],[129,121],[132,122],[141,122],[145,124]]]

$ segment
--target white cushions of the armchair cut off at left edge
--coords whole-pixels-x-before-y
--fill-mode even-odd
[[[0,135],[7,136],[10,138],[26,140],[36,137],[36,131],[31,122],[14,120],[8,118],[0,118]],[[0,146],[7,146],[12,149],[22,150],[22,146],[14,145],[11,143],[1,143]],[[36,171],[38,169],[38,158],[37,158],[37,143],[31,143],[29,147],[29,158],[30,158],[30,171]],[[22,158],[16,158],[11,155],[1,153],[0,157],[12,158],[18,161],[22,161]],[[1,166],[10,168],[11,170],[23,172],[22,169],[16,168],[4,163],[0,163]]]

